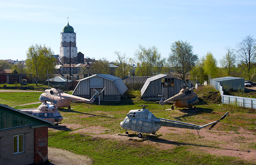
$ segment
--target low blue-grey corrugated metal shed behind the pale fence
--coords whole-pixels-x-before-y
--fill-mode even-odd
[[[219,90],[219,84],[222,86],[223,90],[244,90],[244,78],[240,77],[220,77],[211,79],[210,81],[210,85],[213,86],[216,90]]]

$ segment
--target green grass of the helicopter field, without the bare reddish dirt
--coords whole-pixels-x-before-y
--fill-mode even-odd
[[[19,98],[26,96],[21,92],[16,94],[18,97],[9,96],[8,100],[15,100],[17,104],[21,104],[23,101]],[[34,92],[26,94],[32,96]],[[40,94],[35,93],[34,97],[36,100],[38,100]],[[139,92],[133,92],[132,94],[134,97],[125,97],[120,102],[101,102],[101,105],[95,103],[89,106],[86,103],[71,103],[72,109],[59,108],[64,118],[62,124],[77,124],[81,128],[101,126],[106,128],[106,131],[102,134],[117,134],[122,131],[120,129],[120,122],[126,117],[129,110],[141,109],[139,105],[146,104],[148,105],[148,109],[156,117],[198,125],[218,120],[228,111],[229,115],[211,130],[213,133],[215,131],[222,131],[228,135],[229,131],[236,131],[239,134],[239,128],[251,131],[255,127],[256,112],[253,109],[229,105],[199,104],[197,105],[199,111],[196,112],[190,112],[183,108],[164,110],[164,108],[170,109],[171,105],[163,107],[154,102],[140,100],[138,97]],[[4,95],[6,94],[0,95],[0,98],[2,99]],[[33,101],[30,100],[30,102]],[[30,107],[31,105],[18,108]],[[231,156],[216,156],[202,152],[202,147],[219,148],[219,145],[223,145],[225,142],[200,138],[198,135],[190,133],[194,130],[187,130],[186,134],[176,134],[170,131],[169,134],[164,135],[165,143],[175,145],[174,148],[169,149],[162,149],[160,147],[162,145],[161,143],[151,145],[150,141],[145,144],[141,141],[133,140],[120,141],[96,138],[90,133],[74,134],[72,133],[73,131],[75,130],[49,131],[48,146],[66,149],[76,154],[87,155],[93,159],[93,164],[255,164],[255,162],[245,161]],[[256,132],[254,131],[252,139],[255,139],[255,135]],[[237,141],[241,143],[239,149],[256,150],[255,143],[246,143],[246,139],[237,139]]]

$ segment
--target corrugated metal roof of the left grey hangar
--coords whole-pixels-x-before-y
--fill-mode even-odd
[[[80,81],[90,79],[90,78],[95,77],[95,76],[99,76],[99,77],[102,77],[103,79],[108,79],[110,81],[113,81],[115,86],[117,87],[117,89],[119,90],[119,92],[121,94],[124,94],[128,90],[127,86],[124,84],[124,82],[122,81],[121,78],[110,75],[110,74],[94,74],[92,76],[81,79]]]

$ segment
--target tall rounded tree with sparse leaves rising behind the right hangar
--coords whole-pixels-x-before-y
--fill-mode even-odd
[[[175,41],[172,43],[170,49],[171,53],[169,54],[168,62],[174,71],[180,75],[179,77],[185,80],[185,75],[198,60],[197,54],[193,53],[193,46],[186,41]]]

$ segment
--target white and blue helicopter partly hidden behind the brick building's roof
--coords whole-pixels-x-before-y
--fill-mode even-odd
[[[27,112],[37,117],[41,117],[50,122],[57,123],[56,125],[58,125],[58,123],[63,120],[63,117],[58,111],[57,106],[51,104],[46,100],[41,105],[39,105],[37,109],[32,108],[32,109],[19,109],[19,110],[23,112]]]

